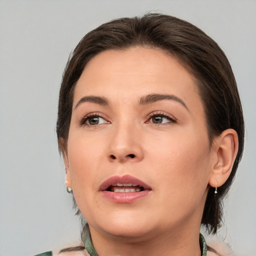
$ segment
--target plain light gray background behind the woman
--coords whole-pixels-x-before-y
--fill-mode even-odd
[[[0,0],[0,255],[79,242],[55,135],[61,74],[90,29],[149,10],[199,26],[230,60],[246,139],[218,236],[238,255],[256,255],[255,0]]]

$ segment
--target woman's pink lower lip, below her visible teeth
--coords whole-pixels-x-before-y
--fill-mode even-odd
[[[117,203],[128,203],[136,201],[146,195],[148,195],[151,190],[142,190],[138,192],[112,192],[104,190],[102,191],[103,196],[113,202]]]

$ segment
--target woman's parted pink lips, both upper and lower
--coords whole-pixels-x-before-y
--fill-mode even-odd
[[[116,183],[132,183],[132,184],[142,186],[144,188],[144,190],[138,191],[138,192],[113,192],[113,191],[105,190],[110,185],[113,185]],[[114,176],[107,178],[99,186],[99,190],[102,191],[102,195],[105,198],[107,198],[110,201],[118,202],[118,203],[132,202],[134,200],[137,200],[141,197],[148,195],[152,191],[151,187],[148,184],[144,183],[143,181],[141,181],[133,176],[127,175],[127,174],[123,175],[123,176],[114,175]]]

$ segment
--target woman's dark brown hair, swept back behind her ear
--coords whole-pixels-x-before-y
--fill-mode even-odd
[[[238,153],[227,181],[210,187],[201,223],[215,233],[222,218],[222,199],[234,178],[243,150],[244,122],[230,64],[217,43],[196,26],[169,15],[147,13],[119,18],[87,33],[69,56],[59,92],[57,138],[68,139],[73,90],[86,63],[107,49],[159,48],[174,56],[196,79],[204,105],[209,141],[227,128],[238,134]]]

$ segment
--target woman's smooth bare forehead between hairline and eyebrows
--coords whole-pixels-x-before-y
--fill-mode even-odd
[[[95,55],[76,83],[74,104],[85,95],[124,100],[150,93],[200,101],[194,77],[174,57],[160,49],[132,47]]]

